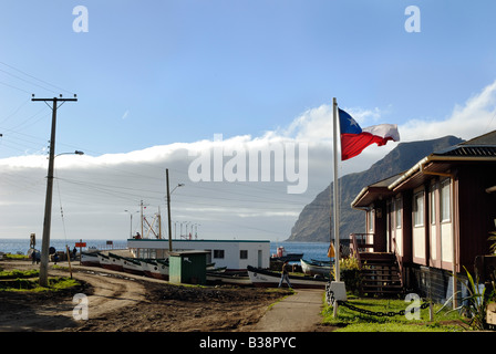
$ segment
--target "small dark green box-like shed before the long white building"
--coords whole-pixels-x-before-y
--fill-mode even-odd
[[[175,251],[169,253],[169,275],[172,283],[206,284],[207,254],[209,251]]]

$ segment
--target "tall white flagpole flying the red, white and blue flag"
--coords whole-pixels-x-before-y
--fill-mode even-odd
[[[339,269],[339,256],[340,256],[340,246],[339,246],[339,188],[338,188],[338,102],[332,98],[332,112],[333,112],[333,155],[334,155],[334,184],[333,184],[333,205],[334,205],[334,270],[335,270],[335,279],[334,281],[340,281],[340,269]],[[333,305],[333,316],[338,316],[338,301],[334,301]]]

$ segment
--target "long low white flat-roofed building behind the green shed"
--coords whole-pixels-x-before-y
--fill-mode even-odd
[[[208,251],[207,263],[245,271],[248,266],[269,268],[269,240],[172,240],[173,251]],[[168,239],[128,239],[127,248],[137,258],[167,258]]]

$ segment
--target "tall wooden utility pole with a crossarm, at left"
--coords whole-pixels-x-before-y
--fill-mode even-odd
[[[53,163],[55,159],[55,127],[56,127],[56,110],[68,101],[76,102],[78,98],[34,98],[32,95],[31,101],[43,101],[49,107],[46,102],[52,102],[52,131],[50,135],[50,157],[49,157],[49,171],[46,176],[46,197],[44,204],[44,219],[43,219],[43,238],[41,241],[41,262],[40,262],[40,285],[48,287],[49,284],[49,248],[50,248],[50,228],[52,223],[52,195],[53,195]],[[60,102],[60,105],[58,105]]]

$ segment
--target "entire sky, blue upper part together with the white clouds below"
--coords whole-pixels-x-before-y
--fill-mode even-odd
[[[89,32],[73,31],[76,6]],[[405,31],[409,6],[420,32]],[[86,154],[56,160],[75,238],[127,235],[123,210],[141,199],[164,207],[168,167],[186,183],[173,219],[211,237],[286,239],[332,179],[333,97],[362,127],[397,124],[402,142],[496,129],[495,13],[494,1],[1,1],[0,237],[41,235],[51,110],[31,94],[75,93],[56,126],[58,154]],[[313,144],[307,192],[192,184],[184,150],[210,148],[214,134],[226,146]],[[394,146],[369,147],[340,175]]]

